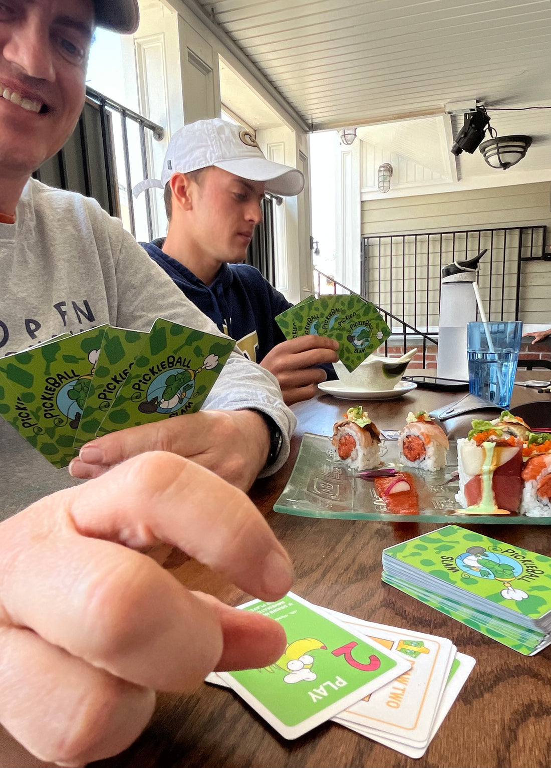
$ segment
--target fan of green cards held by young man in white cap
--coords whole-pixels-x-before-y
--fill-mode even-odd
[[[329,336],[338,341],[338,356],[353,371],[388,339],[391,329],[374,304],[356,293],[347,296],[308,296],[276,317],[286,339]]]

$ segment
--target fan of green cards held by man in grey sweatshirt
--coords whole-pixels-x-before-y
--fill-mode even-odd
[[[199,410],[234,344],[164,319],[57,336],[0,359],[0,415],[65,467],[96,436]]]

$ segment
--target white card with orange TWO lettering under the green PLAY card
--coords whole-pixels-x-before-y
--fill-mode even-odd
[[[454,644],[444,637],[384,627],[323,610],[347,627],[413,660],[411,670],[341,712],[339,722],[361,725],[414,746],[427,743],[455,657]]]

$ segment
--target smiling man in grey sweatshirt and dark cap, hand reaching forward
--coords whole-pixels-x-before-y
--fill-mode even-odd
[[[29,178],[78,120],[94,26],[137,22],[136,0],[0,2],[0,354],[107,322],[145,330],[160,314],[219,333],[120,221]],[[272,376],[237,353],[210,407],[232,410],[107,435],[74,474],[117,467],[0,525],[0,722],[42,760],[111,756],[144,729],[155,690],[282,654],[276,622],[186,591],[134,551],[167,541],[266,600],[291,587],[262,516],[205,466],[246,487],[269,454],[265,417],[281,432],[279,463],[293,417]],[[38,498],[68,482],[3,421],[0,446],[8,505],[7,487]],[[18,760],[9,744],[0,757]]]

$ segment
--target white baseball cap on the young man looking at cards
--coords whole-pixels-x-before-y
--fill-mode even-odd
[[[242,125],[226,120],[198,120],[184,125],[170,139],[159,179],[146,179],[134,187],[134,195],[151,187],[164,189],[173,174],[216,165],[251,181],[265,181],[266,192],[290,197],[302,192],[302,171],[266,160],[256,138]]]

